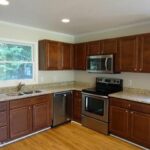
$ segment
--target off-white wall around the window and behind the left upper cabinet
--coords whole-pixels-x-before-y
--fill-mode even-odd
[[[20,42],[34,42],[36,44],[38,44],[38,40],[40,39],[74,43],[74,37],[71,35],[10,24],[6,22],[0,22],[0,39],[15,40]],[[38,53],[37,47],[35,51]],[[38,71],[37,73],[37,82],[39,83],[74,81],[73,71]],[[16,84],[18,84],[18,82],[9,83],[8,85],[5,82],[5,84],[0,85],[0,87],[12,86]]]

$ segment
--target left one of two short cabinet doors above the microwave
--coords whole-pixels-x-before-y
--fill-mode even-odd
[[[98,55],[101,53],[100,41],[92,41],[87,43],[87,54]]]

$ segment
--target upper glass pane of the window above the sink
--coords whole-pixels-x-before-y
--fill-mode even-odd
[[[32,61],[32,46],[0,42],[0,61]]]

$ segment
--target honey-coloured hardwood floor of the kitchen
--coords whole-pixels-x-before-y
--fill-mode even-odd
[[[75,123],[39,133],[0,150],[140,150]]]

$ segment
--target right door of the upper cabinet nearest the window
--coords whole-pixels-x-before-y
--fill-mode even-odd
[[[62,63],[62,69],[73,69],[73,45],[63,43],[62,44],[62,50],[63,50],[63,63]]]

